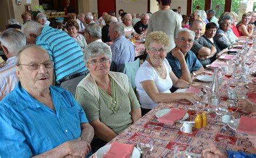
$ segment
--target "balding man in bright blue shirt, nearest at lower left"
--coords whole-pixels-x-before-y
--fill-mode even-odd
[[[42,47],[18,53],[20,82],[0,102],[0,157],[91,155],[94,130],[72,94],[51,86],[52,67]]]

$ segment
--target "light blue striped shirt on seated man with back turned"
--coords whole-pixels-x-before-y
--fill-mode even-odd
[[[134,61],[135,48],[125,36],[114,39],[110,49],[112,51],[112,61],[116,63],[118,71],[122,69],[124,63]]]

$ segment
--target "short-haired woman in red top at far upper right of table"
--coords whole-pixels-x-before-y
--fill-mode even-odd
[[[242,21],[239,25],[237,25],[237,30],[240,36],[252,36],[254,25],[249,24],[251,18],[251,13],[247,12],[242,15]]]

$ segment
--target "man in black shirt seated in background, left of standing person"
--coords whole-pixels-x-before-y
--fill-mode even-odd
[[[140,19],[139,22],[137,22],[134,25],[134,30],[140,34],[142,32],[144,32],[146,34],[147,31],[147,23],[149,23],[149,14],[148,13],[143,13],[142,18]]]

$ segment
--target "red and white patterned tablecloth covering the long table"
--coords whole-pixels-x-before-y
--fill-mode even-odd
[[[225,55],[225,54],[224,54]],[[215,60],[215,63],[226,64],[225,60]],[[252,67],[256,70],[256,64]],[[211,75],[213,70],[205,69],[204,75]],[[253,75],[248,74],[246,81],[251,81],[254,78]],[[201,83],[196,78],[193,78],[194,83],[200,85],[207,85],[208,83]],[[248,93],[248,88],[245,87],[246,83],[238,83],[238,98],[244,97]],[[220,85],[221,103],[226,104],[227,101],[227,88],[224,83]],[[181,123],[176,122],[174,125],[166,125],[159,123],[156,112],[166,108],[181,108],[188,109],[192,105],[188,101],[175,101],[175,102],[161,102],[157,107],[153,108],[149,113],[140,118],[137,122],[133,123],[129,128],[125,129],[120,133],[113,141],[118,141],[127,144],[137,145],[139,138],[147,137],[153,141],[153,150],[147,155],[147,157],[172,157],[174,147],[177,145],[187,145],[192,147],[192,153],[198,155],[201,154],[204,148],[210,146],[211,143],[215,143],[220,147],[229,150],[236,150],[250,153],[256,153],[256,149],[253,147],[252,142],[244,135],[238,134],[237,132],[231,133],[216,123],[219,121],[219,116],[215,113],[207,113],[208,126],[201,129],[193,127],[192,134],[185,134],[180,132]],[[207,109],[204,108],[207,112]],[[245,111],[234,112],[235,118],[240,118],[241,115],[247,115]],[[193,116],[193,119],[196,116]],[[228,127],[229,128],[229,127]],[[109,143],[111,143],[109,142]],[[92,155],[95,157],[95,154]]]

